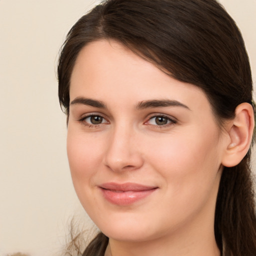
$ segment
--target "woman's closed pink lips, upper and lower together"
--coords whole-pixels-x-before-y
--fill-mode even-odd
[[[99,185],[105,199],[113,204],[128,205],[150,195],[156,186],[146,186],[137,183],[108,182]]]

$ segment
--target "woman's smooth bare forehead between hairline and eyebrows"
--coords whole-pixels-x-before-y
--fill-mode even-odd
[[[170,77],[113,40],[91,42],[79,52],[70,79],[70,100],[78,96],[122,104],[168,98],[209,108],[199,87]]]

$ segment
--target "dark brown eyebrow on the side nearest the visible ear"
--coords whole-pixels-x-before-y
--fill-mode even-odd
[[[136,109],[167,107],[167,106],[181,106],[190,110],[190,108],[187,105],[184,105],[183,103],[177,100],[170,100],[170,99],[162,99],[162,100],[152,99],[152,100],[141,101],[136,105]]]

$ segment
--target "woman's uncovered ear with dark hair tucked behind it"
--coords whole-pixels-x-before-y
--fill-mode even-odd
[[[222,164],[226,167],[237,165],[250,147],[254,128],[253,108],[241,103],[235,109],[235,117],[228,122],[228,143],[225,145]]]

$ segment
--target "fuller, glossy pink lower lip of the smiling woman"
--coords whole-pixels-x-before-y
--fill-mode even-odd
[[[118,205],[128,205],[147,197],[153,193],[156,188],[140,191],[115,191],[104,188],[100,188],[100,190],[104,198],[109,202]]]

